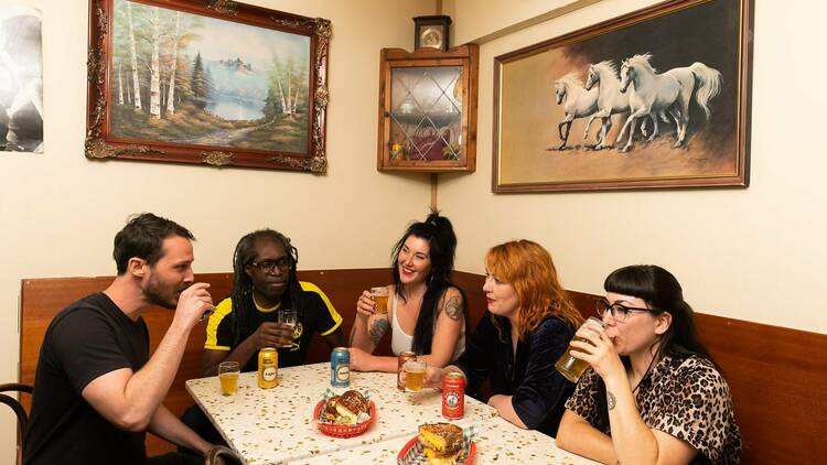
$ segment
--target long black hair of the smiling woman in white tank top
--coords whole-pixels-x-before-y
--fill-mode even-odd
[[[465,310],[465,293],[458,285],[451,282],[453,271],[453,259],[457,251],[457,236],[453,233],[451,221],[439,212],[431,210],[428,218],[422,223],[415,223],[408,226],[401,239],[394,246],[391,253],[394,269],[394,288],[398,298],[407,300],[407,290],[399,278],[399,251],[401,251],[405,241],[410,237],[418,237],[428,241],[430,247],[431,272],[426,278],[426,292],[422,298],[422,306],[419,310],[417,324],[414,329],[414,340],[411,350],[420,355],[431,353],[431,342],[433,340],[433,326],[439,313],[439,300],[448,290],[455,288],[462,295],[462,313],[465,316],[468,325],[468,312]]]

